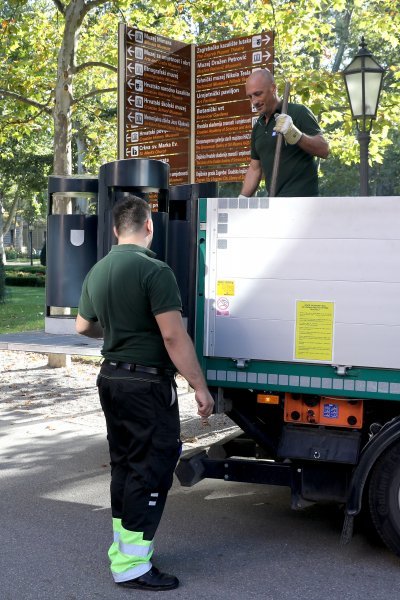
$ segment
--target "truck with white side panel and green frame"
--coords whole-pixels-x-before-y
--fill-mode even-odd
[[[400,555],[400,197],[201,198],[195,245],[196,349],[239,429],[181,484],[287,486]]]

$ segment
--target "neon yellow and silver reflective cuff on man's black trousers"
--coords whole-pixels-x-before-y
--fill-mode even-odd
[[[151,569],[153,542],[140,531],[128,531],[121,519],[113,519],[114,542],[108,551],[114,581],[120,583],[140,577]]]

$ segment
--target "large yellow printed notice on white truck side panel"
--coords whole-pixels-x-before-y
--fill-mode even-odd
[[[296,302],[295,358],[333,360],[334,302]]]

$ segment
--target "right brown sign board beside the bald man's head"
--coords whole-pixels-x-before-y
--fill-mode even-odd
[[[272,33],[196,48],[196,182],[243,179],[254,118],[245,81],[260,67],[273,70]]]

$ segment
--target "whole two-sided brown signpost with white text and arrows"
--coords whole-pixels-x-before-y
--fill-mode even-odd
[[[273,34],[192,46],[120,25],[119,158],[170,165],[170,185],[240,181],[255,115],[245,81],[273,71]]]

